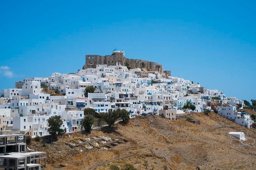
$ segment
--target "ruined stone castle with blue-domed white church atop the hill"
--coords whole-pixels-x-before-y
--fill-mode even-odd
[[[165,73],[169,76],[171,75],[171,71],[164,71],[163,66],[159,63],[125,58],[124,50],[120,52],[117,48],[113,50],[111,55],[85,55],[85,65],[83,66],[83,69],[96,68],[96,64],[105,64],[108,66],[122,65],[129,68],[142,68],[146,71],[157,71],[159,73]]]

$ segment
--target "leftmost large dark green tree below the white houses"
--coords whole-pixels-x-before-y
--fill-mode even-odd
[[[56,132],[63,132],[63,129],[60,128],[60,126],[63,123],[60,116],[58,116],[58,115],[52,116],[49,119],[47,119],[47,121],[48,121],[48,126],[49,126],[47,131],[51,135],[55,136]]]

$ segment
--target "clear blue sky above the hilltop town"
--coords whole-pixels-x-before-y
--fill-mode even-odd
[[[81,69],[86,54],[162,64],[172,76],[255,97],[255,1],[0,1],[0,89]]]

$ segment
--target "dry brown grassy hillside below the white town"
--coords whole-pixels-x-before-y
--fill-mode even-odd
[[[188,116],[201,123],[193,124],[185,119],[169,121],[159,116],[139,117],[125,126],[116,124],[113,130],[102,128],[91,134],[65,134],[46,147],[38,142],[32,142],[29,147],[47,152],[48,170],[62,166],[65,170],[91,169],[96,165],[99,166],[93,169],[108,170],[110,165],[121,168],[125,163],[145,169],[145,160],[148,169],[160,170],[167,166],[162,158],[174,170],[255,169],[256,129],[247,129],[215,113]],[[240,142],[229,136],[231,131],[245,132],[248,141]],[[111,141],[100,138],[101,135]],[[93,148],[88,149],[89,145]]]

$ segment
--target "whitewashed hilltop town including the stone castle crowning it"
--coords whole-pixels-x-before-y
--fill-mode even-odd
[[[95,91],[85,96],[89,86]],[[158,63],[127,59],[117,48],[112,55],[86,55],[85,66],[76,73],[26,78],[15,88],[3,89],[0,96],[2,134],[48,135],[47,120],[54,115],[61,116],[65,132],[78,131],[85,108],[98,113],[123,108],[131,118],[154,114],[169,120],[190,112],[215,111],[246,128],[253,123],[238,111],[245,106],[243,100],[171,76]]]

